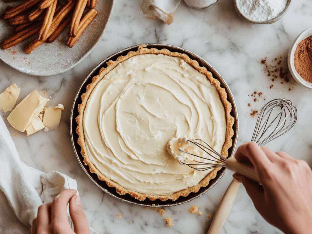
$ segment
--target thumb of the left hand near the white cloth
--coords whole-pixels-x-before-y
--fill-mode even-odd
[[[74,229],[77,234],[89,234],[89,226],[85,213],[83,213],[80,205],[80,197],[75,195],[69,202],[69,213],[74,224]]]

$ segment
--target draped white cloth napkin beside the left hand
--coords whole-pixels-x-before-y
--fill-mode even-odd
[[[28,234],[38,207],[52,202],[63,189],[77,190],[76,180],[60,172],[43,173],[23,163],[0,118],[0,233]],[[73,229],[68,209],[67,216]],[[90,233],[96,234],[91,228]]]

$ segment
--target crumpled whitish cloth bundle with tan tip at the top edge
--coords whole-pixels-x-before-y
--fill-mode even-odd
[[[173,13],[181,0],[143,0],[141,11],[149,19],[160,19],[166,24],[173,22]]]

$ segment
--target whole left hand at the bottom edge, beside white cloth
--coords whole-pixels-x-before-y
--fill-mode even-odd
[[[80,206],[80,197],[76,190],[65,189],[53,202],[38,208],[37,218],[32,221],[29,234],[90,234],[87,218]],[[67,220],[67,204],[74,224],[75,232]]]

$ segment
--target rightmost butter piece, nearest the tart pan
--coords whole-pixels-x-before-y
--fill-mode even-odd
[[[43,124],[49,129],[56,129],[61,121],[62,110],[64,106],[58,104],[56,107],[48,107],[43,114]]]

